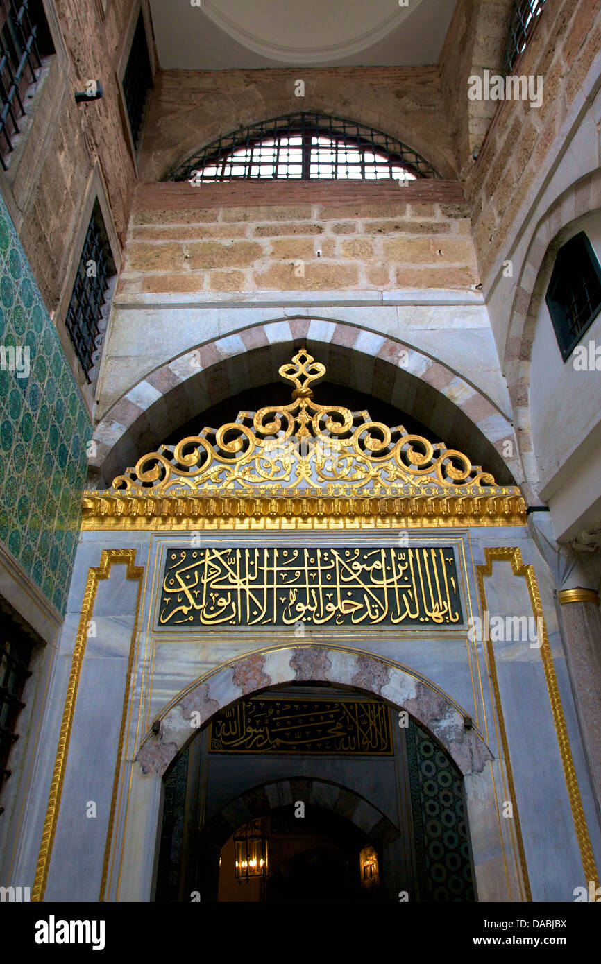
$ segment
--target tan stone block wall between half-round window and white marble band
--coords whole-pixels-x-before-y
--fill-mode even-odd
[[[120,300],[147,292],[474,288],[467,206],[456,185],[439,185],[285,184],[282,196],[271,184],[147,185],[132,215]]]

